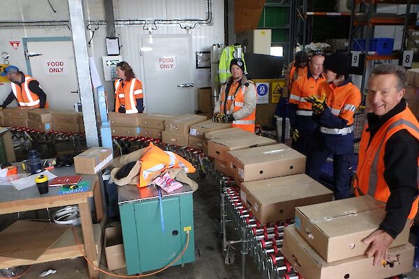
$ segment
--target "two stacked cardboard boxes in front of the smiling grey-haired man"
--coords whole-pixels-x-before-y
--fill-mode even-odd
[[[378,229],[385,204],[365,195],[295,209],[284,229],[281,252],[305,279],[390,278],[411,271],[415,248],[409,223],[388,249],[388,261],[373,266],[362,240]]]

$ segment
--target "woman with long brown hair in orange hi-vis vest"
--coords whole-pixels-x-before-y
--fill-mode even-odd
[[[142,84],[135,78],[133,69],[125,61],[117,64],[115,80],[115,112],[133,114],[144,110]]]

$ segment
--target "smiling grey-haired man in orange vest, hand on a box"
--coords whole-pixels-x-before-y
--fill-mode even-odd
[[[360,142],[355,195],[385,202],[380,227],[364,243],[374,265],[388,257],[393,239],[418,212],[419,122],[404,100],[406,70],[381,64],[369,77],[367,114]]]

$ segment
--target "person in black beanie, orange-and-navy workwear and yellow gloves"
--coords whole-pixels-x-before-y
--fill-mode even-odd
[[[321,98],[311,96],[314,147],[307,158],[307,174],[318,180],[329,156],[333,158],[335,199],[351,196],[353,152],[353,116],[361,103],[360,90],[348,77],[350,61],[342,52],[326,56],[323,63],[325,81],[319,85]]]

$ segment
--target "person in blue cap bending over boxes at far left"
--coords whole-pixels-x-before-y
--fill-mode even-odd
[[[4,68],[0,75],[7,77],[12,86],[12,91],[4,100],[1,108],[7,107],[15,99],[20,107],[48,108],[47,94],[34,77],[24,75],[19,68],[12,65]]]

